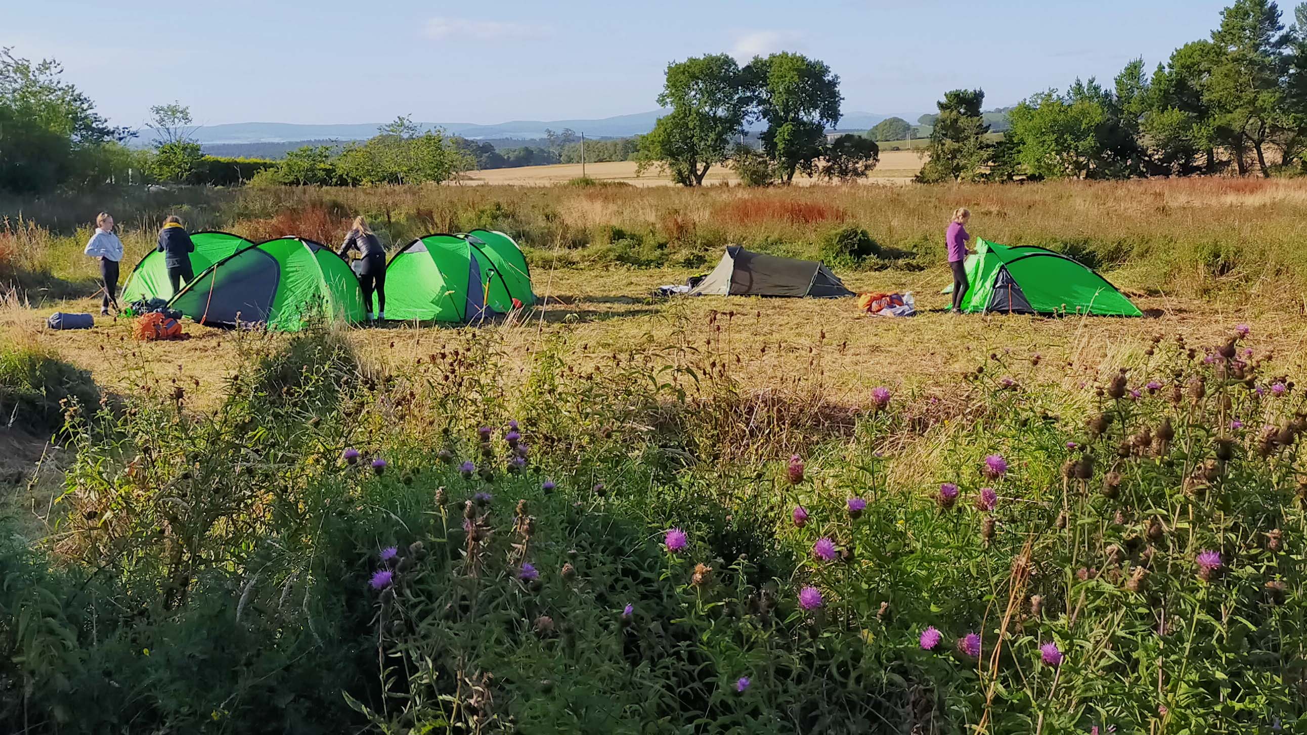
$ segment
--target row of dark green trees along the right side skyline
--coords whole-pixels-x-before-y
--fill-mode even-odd
[[[1008,112],[989,142],[982,90],[937,103],[919,180],[1127,179],[1307,172],[1307,3],[1287,27],[1270,0],[1236,0],[1210,38],[1157,65],[1125,65],[1111,86],[1076,80]]]

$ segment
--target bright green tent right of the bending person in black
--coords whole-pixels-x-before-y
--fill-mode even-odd
[[[426,235],[386,266],[386,316],[469,322],[536,303],[531,272],[503,232]]]

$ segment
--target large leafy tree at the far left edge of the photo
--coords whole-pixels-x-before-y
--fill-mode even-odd
[[[0,48],[0,191],[41,193],[102,183],[110,151],[131,136],[95,112],[89,97],[60,80],[58,61],[29,61]]]

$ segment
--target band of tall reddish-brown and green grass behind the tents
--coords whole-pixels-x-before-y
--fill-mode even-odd
[[[64,206],[37,202],[27,211],[35,211],[38,230],[48,235],[25,234],[25,247],[34,252],[26,257],[55,277],[85,277],[90,266],[78,265],[72,252],[80,235],[65,238],[86,227],[99,209],[120,206],[115,214],[125,223],[127,239],[148,244],[156,218],[174,209],[169,201],[192,213],[187,222],[192,228],[221,227],[256,239],[294,232],[333,242],[354,214],[367,215],[388,247],[429,232],[497,228],[514,235],[536,264],[565,268],[702,266],[729,243],[818,257],[822,243],[848,227],[865,231],[878,252],[893,253],[894,262],[872,257],[846,268],[933,268],[944,257],[949,213],[968,206],[971,231],[980,238],[1050,247],[1148,292],[1280,302],[1307,289],[1307,248],[1300,235],[1307,183],[1252,179],[699,191],[566,185],[191,189],[94,205],[86,200]],[[16,230],[10,225],[7,231]]]

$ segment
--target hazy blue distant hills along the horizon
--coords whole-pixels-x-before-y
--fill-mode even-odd
[[[603,117],[599,120],[512,120],[497,125],[481,125],[476,123],[422,123],[423,128],[443,128],[446,132],[467,138],[521,138],[533,140],[545,137],[545,129],[562,131],[571,128],[578,133],[591,137],[627,137],[647,133],[654,129],[654,123],[667,110],[651,110],[634,115],[618,115],[616,117]],[[916,120],[916,115],[899,115],[906,120]],[[877,115],[874,112],[850,112],[839,121],[842,131],[865,131],[876,123],[890,117],[890,115]],[[376,128],[382,123],[357,124],[314,124],[302,125],[297,123],[226,123],[221,125],[204,125],[195,131],[195,138],[200,144],[252,144],[252,142],[288,142],[306,140],[366,140],[376,134]],[[142,131],[141,144],[149,144],[149,132]]]

